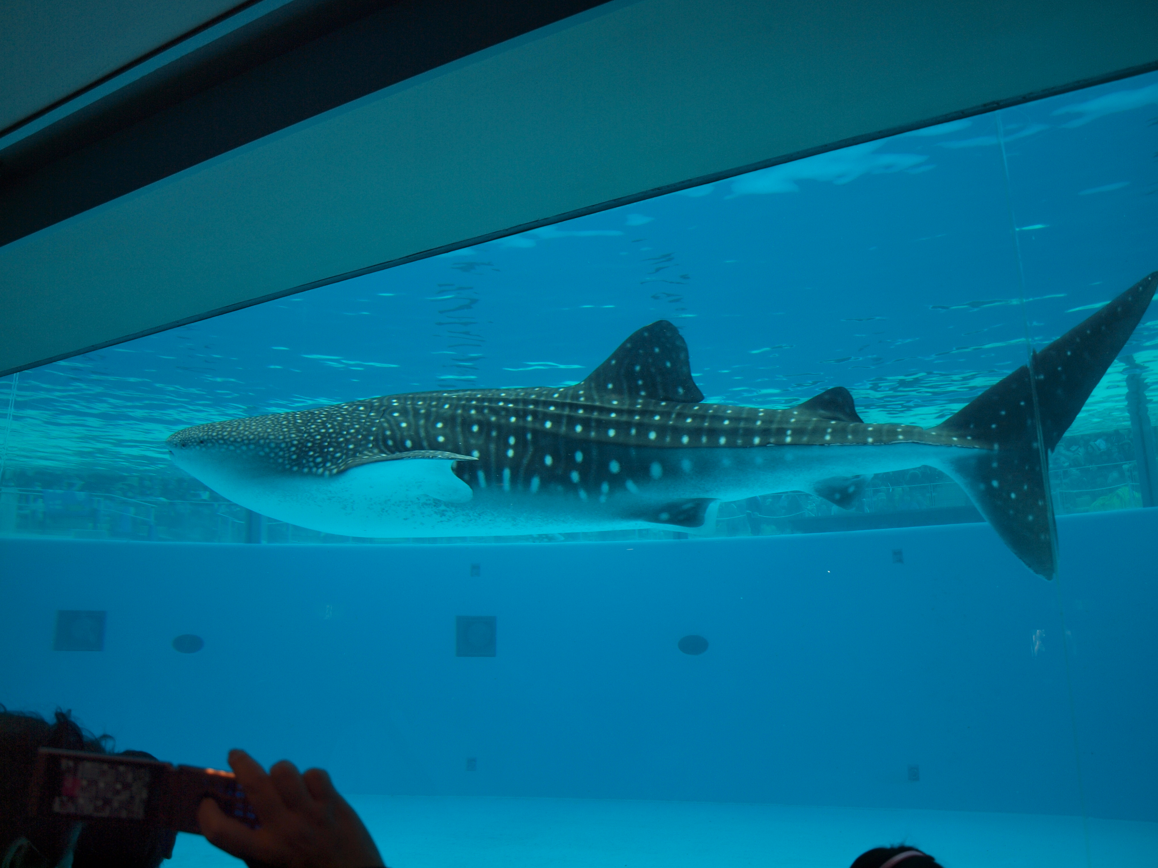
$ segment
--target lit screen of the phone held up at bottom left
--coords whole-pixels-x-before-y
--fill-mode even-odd
[[[60,789],[54,814],[111,819],[144,819],[152,768],[138,763],[109,763],[59,757]]]

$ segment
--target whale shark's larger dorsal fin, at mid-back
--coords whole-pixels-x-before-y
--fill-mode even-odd
[[[691,380],[688,345],[660,319],[620,344],[591,376],[573,387],[584,397],[621,396],[698,404],[704,393]]]

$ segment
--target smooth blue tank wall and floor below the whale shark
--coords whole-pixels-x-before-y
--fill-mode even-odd
[[[0,540],[0,571],[28,578],[0,586],[5,701],[63,703],[168,759],[220,765],[241,745],[327,767],[401,868],[571,865],[577,848],[632,868],[840,866],[899,838],[948,868],[1150,866],[1158,510],[1060,525],[1055,582],[983,524]],[[104,650],[53,652],[58,609],[107,611]],[[457,615],[496,617],[496,656],[455,655]],[[175,653],[189,633],[204,648]],[[709,649],[680,653],[689,634]],[[191,839],[177,855],[228,862]]]

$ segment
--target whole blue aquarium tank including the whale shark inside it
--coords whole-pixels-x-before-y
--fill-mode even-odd
[[[8,376],[3,703],[324,767],[403,868],[1153,866],[1156,132],[1149,73]]]

